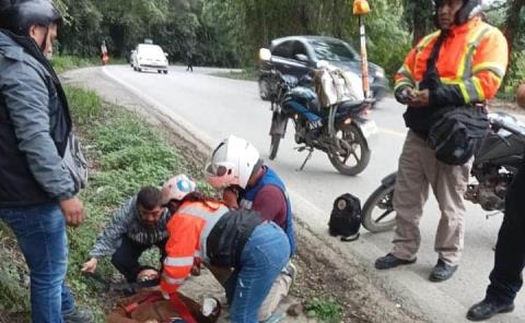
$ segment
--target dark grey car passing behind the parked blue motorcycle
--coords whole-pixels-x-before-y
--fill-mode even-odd
[[[361,77],[361,60],[358,52],[341,39],[325,36],[290,36],[278,38],[270,44],[271,60],[264,60],[259,69],[259,94],[262,99],[269,99],[271,88],[271,70],[301,79],[319,67],[319,61],[326,61],[336,68],[354,73]],[[381,100],[386,93],[387,82],[385,71],[369,63],[369,79],[372,96]]]

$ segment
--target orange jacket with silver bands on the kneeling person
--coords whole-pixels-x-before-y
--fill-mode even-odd
[[[186,202],[167,223],[166,258],[161,289],[175,292],[188,278],[195,262],[207,262],[206,241],[219,219],[229,212],[224,204]]]

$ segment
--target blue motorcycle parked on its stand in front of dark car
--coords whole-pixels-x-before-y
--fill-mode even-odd
[[[278,80],[272,82],[277,88],[270,92],[269,158],[277,157],[279,143],[291,119],[295,127],[295,143],[302,145],[298,151],[308,151],[300,170],[304,169],[314,149],[319,149],[328,155],[340,174],[354,176],[363,171],[371,156],[366,139],[377,128],[374,121],[366,119],[374,100],[342,101],[325,108],[319,106],[308,75],[298,80],[272,71],[272,77]]]

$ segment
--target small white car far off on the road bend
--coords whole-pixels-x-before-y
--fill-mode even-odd
[[[159,45],[139,44],[131,51],[131,67],[139,72],[158,71],[167,74],[167,53]]]

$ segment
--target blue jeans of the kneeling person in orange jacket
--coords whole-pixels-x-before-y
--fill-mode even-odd
[[[259,308],[290,259],[290,241],[275,223],[252,232],[241,254],[240,266],[225,284],[234,323],[257,323]]]

